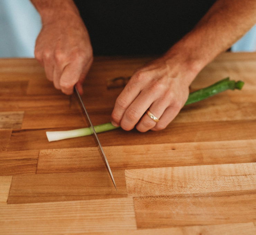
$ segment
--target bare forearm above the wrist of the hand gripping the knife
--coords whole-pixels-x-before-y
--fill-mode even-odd
[[[39,12],[43,25],[63,17],[80,16],[73,0],[30,0]]]

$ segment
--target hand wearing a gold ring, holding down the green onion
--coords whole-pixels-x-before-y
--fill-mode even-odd
[[[136,71],[116,100],[112,124],[127,131],[135,125],[140,132],[165,129],[184,106],[196,76],[183,60],[163,56]]]

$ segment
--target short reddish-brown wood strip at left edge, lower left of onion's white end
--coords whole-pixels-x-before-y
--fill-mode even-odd
[[[35,174],[38,150],[6,151],[0,154],[0,176]]]

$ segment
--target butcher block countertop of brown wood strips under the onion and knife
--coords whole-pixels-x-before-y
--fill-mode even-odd
[[[111,121],[128,77],[152,58],[97,57],[83,100],[94,125]],[[0,234],[256,234],[256,53],[224,53],[191,91],[243,80],[185,106],[162,131],[48,142],[87,126],[76,97],[56,90],[35,59],[0,59]]]

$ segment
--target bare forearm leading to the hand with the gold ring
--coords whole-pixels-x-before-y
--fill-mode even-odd
[[[176,53],[198,73],[219,53],[227,50],[256,23],[255,0],[218,0],[199,23],[165,56]]]

